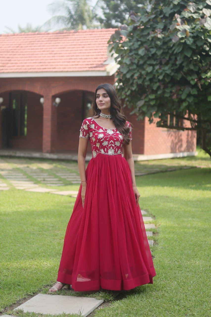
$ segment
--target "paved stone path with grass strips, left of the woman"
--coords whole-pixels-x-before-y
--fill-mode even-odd
[[[10,185],[4,185],[4,179]],[[49,164],[46,160],[0,158],[0,184],[0,191],[15,187],[26,191],[54,192],[56,189],[49,187],[80,184],[80,176],[75,162]],[[57,194],[59,194],[58,190]],[[65,195],[64,190],[61,195]],[[72,195],[76,197],[77,192]]]

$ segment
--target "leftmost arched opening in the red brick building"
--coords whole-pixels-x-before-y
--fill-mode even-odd
[[[41,95],[12,90],[0,94],[1,149],[42,151],[43,109]]]

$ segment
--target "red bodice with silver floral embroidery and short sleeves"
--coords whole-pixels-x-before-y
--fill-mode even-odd
[[[126,121],[130,128],[129,138],[132,139],[131,125]],[[93,158],[99,154],[122,155],[124,139],[122,134],[115,129],[106,129],[100,126],[93,118],[83,121],[80,128],[80,138],[90,140]]]

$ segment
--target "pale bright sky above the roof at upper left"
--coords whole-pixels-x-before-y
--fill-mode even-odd
[[[48,4],[54,0],[0,0],[0,34],[10,33],[9,27],[18,32],[18,24],[25,27],[27,23],[33,27],[44,24],[53,14]],[[90,3],[95,3],[91,0]]]

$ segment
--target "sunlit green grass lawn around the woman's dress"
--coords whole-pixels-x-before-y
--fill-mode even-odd
[[[204,158],[201,161],[209,164],[207,157]],[[194,158],[181,160],[187,163],[184,165],[191,161],[195,166]],[[168,165],[164,161],[159,160],[159,164]],[[176,164],[174,159],[170,161]],[[210,179],[208,168],[137,177],[141,208],[155,217],[153,222],[158,227],[154,230],[156,244],[152,249],[157,276],[153,285],[124,291],[118,300],[109,292],[86,294],[110,300],[94,316],[209,315]],[[68,189],[75,189],[76,185],[72,186]],[[46,293],[46,286],[56,279],[74,201],[74,198],[48,193],[15,189],[0,192],[0,312],[29,294]]]

